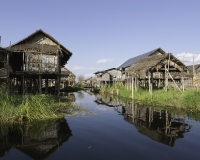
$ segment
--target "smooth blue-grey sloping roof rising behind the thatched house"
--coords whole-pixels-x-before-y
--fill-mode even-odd
[[[134,64],[135,62],[137,62],[139,59],[151,56],[156,51],[160,51],[162,54],[166,53],[161,48],[157,48],[157,49],[154,49],[154,50],[149,51],[147,53],[144,53],[144,54],[141,54],[139,56],[136,56],[136,57],[128,59],[127,61],[125,61],[124,63],[122,63],[119,67],[117,67],[117,69],[130,67],[132,64]]]

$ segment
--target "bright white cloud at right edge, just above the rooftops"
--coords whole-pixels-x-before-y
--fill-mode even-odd
[[[200,63],[200,54],[180,53],[177,54],[176,57],[187,65],[193,63],[193,57],[195,64]]]

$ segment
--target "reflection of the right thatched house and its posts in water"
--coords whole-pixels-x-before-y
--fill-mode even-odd
[[[139,133],[171,147],[176,139],[183,138],[183,134],[191,129],[185,123],[184,116],[177,117],[167,110],[126,104],[122,107],[122,113],[125,121],[134,124]]]

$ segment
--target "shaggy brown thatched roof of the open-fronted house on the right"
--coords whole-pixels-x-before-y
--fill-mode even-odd
[[[135,62],[130,68],[127,69],[127,72],[139,73],[144,70],[153,70],[157,65],[160,65],[160,67],[162,67],[164,63],[166,63],[166,60],[168,59],[169,59],[169,54],[145,57]],[[179,66],[187,68],[185,64],[183,64],[173,55],[170,55],[170,61],[175,62]]]

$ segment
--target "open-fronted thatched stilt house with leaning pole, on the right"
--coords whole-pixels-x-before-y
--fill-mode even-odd
[[[187,87],[183,82],[188,78],[188,68],[170,53],[142,58],[125,72],[136,77],[144,86]]]

